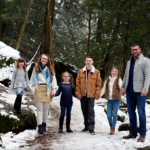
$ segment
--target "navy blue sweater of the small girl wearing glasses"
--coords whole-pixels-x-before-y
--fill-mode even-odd
[[[72,106],[73,100],[72,96],[75,96],[75,90],[72,87],[71,83],[63,83],[59,84],[58,91],[55,93],[55,96],[59,96],[61,94],[60,105],[61,106]]]

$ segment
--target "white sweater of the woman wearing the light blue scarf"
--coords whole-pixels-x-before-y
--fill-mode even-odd
[[[34,85],[34,77],[35,77],[35,69],[33,69],[31,78],[30,78],[30,84],[31,87],[35,87]],[[46,77],[42,73],[38,73],[38,84],[46,83]],[[56,93],[57,91],[57,80],[56,76],[53,75],[53,81],[51,83],[52,86],[52,93]]]

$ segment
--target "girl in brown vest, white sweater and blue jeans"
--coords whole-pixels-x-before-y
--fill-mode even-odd
[[[106,79],[101,91],[100,97],[106,95],[107,102],[107,119],[110,125],[110,134],[114,134],[115,126],[118,119],[118,109],[121,100],[120,88],[122,80],[120,78],[119,68],[114,66],[111,69],[110,76]]]

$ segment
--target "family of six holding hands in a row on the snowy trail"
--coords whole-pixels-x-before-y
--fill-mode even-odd
[[[62,82],[57,87],[55,72],[51,65],[50,57],[42,54],[33,69],[30,81],[26,70],[25,60],[17,60],[16,69],[13,72],[10,91],[17,97],[14,103],[13,112],[21,114],[22,95],[34,87],[34,100],[37,106],[38,133],[46,132],[46,120],[49,111],[49,104],[52,98],[59,96],[61,115],[59,118],[59,133],[63,132],[63,122],[66,112],[66,131],[73,132],[70,128],[71,109],[73,96],[80,100],[81,110],[84,118],[84,129],[95,134],[95,100],[99,100],[105,94],[107,101],[107,118],[110,126],[110,135],[115,133],[115,126],[118,117],[118,109],[121,96],[126,94],[127,110],[130,120],[129,135],[124,139],[137,137],[136,108],[139,114],[140,136],[138,142],[144,142],[146,137],[146,113],[145,103],[150,84],[150,60],[143,56],[141,48],[137,44],[131,45],[131,58],[128,60],[123,81],[120,77],[119,67],[113,66],[109,76],[101,86],[100,71],[93,66],[93,58],[87,56],[85,67],[80,69],[76,78],[76,90],[73,76],[69,72],[62,73]]]

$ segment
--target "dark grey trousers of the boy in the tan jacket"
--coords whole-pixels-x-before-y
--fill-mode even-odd
[[[82,97],[81,100],[81,110],[84,117],[85,128],[89,130],[94,130],[95,128],[95,111],[94,102],[95,98]]]

